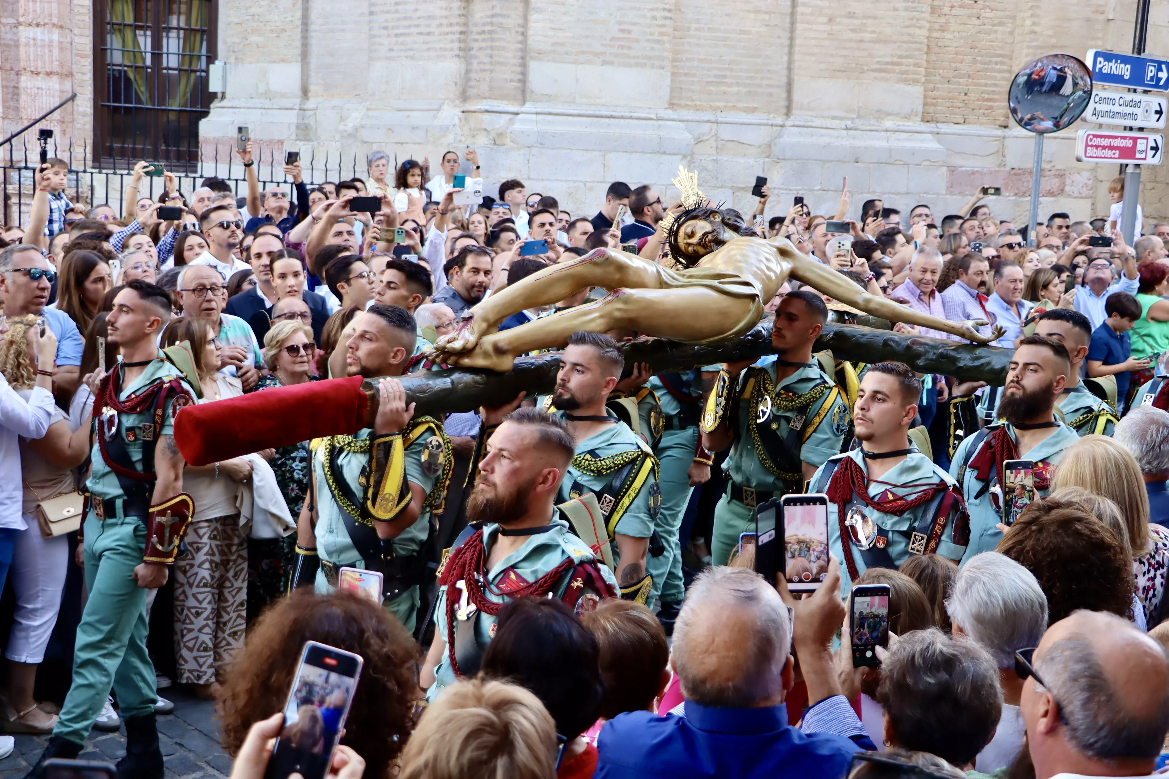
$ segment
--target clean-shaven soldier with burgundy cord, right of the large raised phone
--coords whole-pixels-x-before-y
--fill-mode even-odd
[[[933,552],[957,562],[966,551],[970,526],[957,482],[909,440],[920,394],[908,366],[869,366],[852,409],[859,446],[812,477],[811,492],[828,494],[829,549],[848,571],[842,594],[870,568]]]

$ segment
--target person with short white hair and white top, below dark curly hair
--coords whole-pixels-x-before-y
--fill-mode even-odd
[[[975,760],[976,771],[990,773],[1010,765],[1023,746],[1019,700],[1024,680],[1015,673],[1015,652],[1039,645],[1047,630],[1047,597],[1031,571],[1005,555],[987,551],[959,570],[946,612],[954,635],[973,639],[998,666],[1002,716],[994,738]]]

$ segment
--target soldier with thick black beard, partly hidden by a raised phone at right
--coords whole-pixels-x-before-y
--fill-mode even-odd
[[[968,437],[950,462],[950,475],[962,487],[970,514],[970,542],[963,562],[995,548],[1003,534],[1003,462],[1033,460],[1036,498],[1044,498],[1052,468],[1064,450],[1079,440],[1075,431],[1056,418],[1056,401],[1064,391],[1072,362],[1064,345],[1045,335],[1019,342],[1007,371],[997,422]]]

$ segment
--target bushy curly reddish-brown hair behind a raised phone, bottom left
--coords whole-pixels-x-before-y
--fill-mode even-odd
[[[296,590],[260,617],[220,694],[223,749],[235,756],[251,725],[284,709],[310,640],[365,660],[340,743],[366,759],[367,777],[386,777],[414,729],[419,646],[385,608],[347,592]]]

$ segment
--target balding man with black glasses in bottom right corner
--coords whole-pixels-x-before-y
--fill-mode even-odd
[[[1036,779],[1151,777],[1169,729],[1169,660],[1127,619],[1077,611],[1021,649]]]

